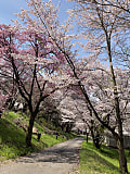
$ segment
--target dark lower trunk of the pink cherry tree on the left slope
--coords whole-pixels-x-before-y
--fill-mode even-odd
[[[32,137],[32,127],[35,123],[35,115],[31,113],[30,114],[30,120],[29,120],[29,126],[28,126],[28,133],[26,136],[26,146],[31,147],[31,137]]]

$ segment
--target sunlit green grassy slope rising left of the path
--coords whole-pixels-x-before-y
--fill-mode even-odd
[[[42,134],[44,129],[36,123],[35,127],[41,133],[41,139],[37,141],[37,136],[32,135],[32,147],[26,148],[26,132],[14,123],[20,117],[22,124],[28,124],[28,119],[25,114],[22,116],[14,112],[9,112],[0,119],[0,161],[29,154],[66,140],[63,136],[58,136],[56,139],[54,135]]]

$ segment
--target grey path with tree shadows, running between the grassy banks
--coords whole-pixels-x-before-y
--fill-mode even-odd
[[[81,137],[0,166],[0,174],[75,174]]]

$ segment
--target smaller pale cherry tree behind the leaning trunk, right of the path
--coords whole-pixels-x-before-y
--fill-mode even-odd
[[[104,139],[104,126],[98,120],[95,120],[93,112],[86,102],[82,94],[78,95],[77,91],[80,92],[80,88],[78,86],[76,90],[68,89],[66,95],[67,97],[62,101],[62,105],[66,108],[66,110],[73,112],[76,127],[81,127],[83,132],[86,130],[87,139],[88,134],[90,133],[93,146],[100,149]],[[91,102],[94,107],[98,104],[96,100],[94,99],[91,100]]]

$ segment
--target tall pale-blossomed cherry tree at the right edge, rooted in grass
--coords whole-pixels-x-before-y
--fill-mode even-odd
[[[81,34],[87,40],[83,45],[84,50],[90,52],[89,57],[96,61],[109,64],[107,69],[94,66],[96,75],[94,73],[92,84],[95,88],[94,97],[100,101],[98,105],[94,105],[83,91],[84,97],[94,116],[115,137],[119,149],[120,171],[128,173],[122,128],[123,121],[128,119],[129,69],[122,66],[129,62],[130,53],[130,4],[128,1],[116,0],[78,1],[77,3],[78,7],[73,10],[72,15],[78,18],[82,28]],[[121,63],[122,66],[120,66]]]

